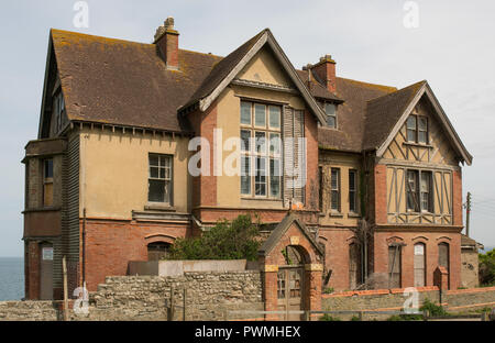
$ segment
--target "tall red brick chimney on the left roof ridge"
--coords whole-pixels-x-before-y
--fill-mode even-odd
[[[174,30],[174,18],[168,16],[164,25],[156,29],[155,41],[167,69],[178,70],[178,35]]]

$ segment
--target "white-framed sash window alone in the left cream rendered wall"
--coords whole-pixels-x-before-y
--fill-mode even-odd
[[[150,154],[147,200],[172,204],[172,156]]]

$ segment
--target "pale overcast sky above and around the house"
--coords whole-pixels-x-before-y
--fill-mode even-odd
[[[76,1],[0,4],[0,256],[23,253],[21,159],[37,134],[50,29],[151,43],[167,16],[186,49],[226,56],[270,27],[296,68],[331,54],[341,77],[398,88],[427,79],[474,156],[463,169],[472,236],[495,245],[495,1],[414,1],[418,21],[402,0],[86,2],[89,27],[81,29]]]

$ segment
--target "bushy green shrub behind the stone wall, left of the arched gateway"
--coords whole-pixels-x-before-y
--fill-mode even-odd
[[[250,215],[239,215],[232,222],[218,221],[199,237],[177,239],[168,259],[256,261],[258,232]]]

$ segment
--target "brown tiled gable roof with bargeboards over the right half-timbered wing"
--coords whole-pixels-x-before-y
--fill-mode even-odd
[[[437,119],[443,126],[447,136],[459,156],[471,165],[473,156],[468,152],[449,118],[441,108],[437,97],[426,80],[403,88],[394,93],[371,100],[366,112],[366,140],[363,150],[376,148],[376,155],[384,154],[392,140],[406,122],[413,109],[421,97],[426,96],[433,109]]]

